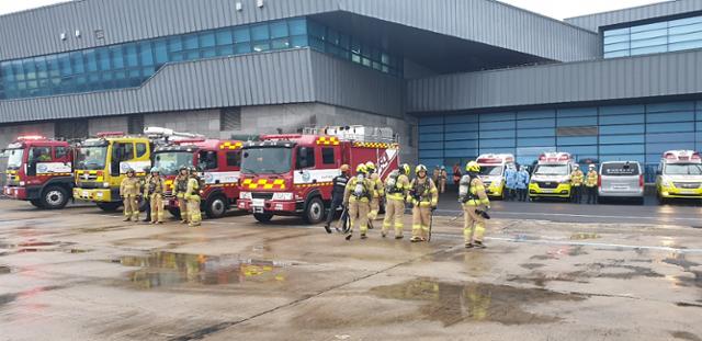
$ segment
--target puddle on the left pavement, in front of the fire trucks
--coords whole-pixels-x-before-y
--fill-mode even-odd
[[[122,257],[113,262],[124,266],[138,266],[127,273],[128,281],[138,288],[176,285],[224,285],[247,281],[282,283],[287,268],[294,263],[212,257],[204,254],[158,251],[145,257]]]

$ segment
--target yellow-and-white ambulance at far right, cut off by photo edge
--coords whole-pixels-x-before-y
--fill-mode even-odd
[[[692,150],[664,152],[656,171],[658,201],[670,198],[702,200],[702,158]]]

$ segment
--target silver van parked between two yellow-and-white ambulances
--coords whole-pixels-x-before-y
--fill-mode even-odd
[[[637,161],[608,161],[600,164],[600,198],[635,198],[644,204],[644,171]]]

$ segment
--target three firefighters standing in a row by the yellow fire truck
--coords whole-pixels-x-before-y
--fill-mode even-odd
[[[182,167],[173,181],[173,195],[178,200],[181,224],[200,226],[201,179],[194,167]],[[139,198],[147,202],[147,218],[150,224],[163,224],[166,218],[163,197],[167,191],[166,179],[158,168],[151,168],[145,180],[136,177],[134,169],[127,170],[127,177],[120,185],[120,196],[124,202],[124,221],[139,221]]]

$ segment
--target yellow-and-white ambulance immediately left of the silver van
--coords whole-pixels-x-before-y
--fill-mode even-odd
[[[529,197],[570,198],[570,173],[575,160],[568,152],[545,152],[532,172],[529,182]]]

